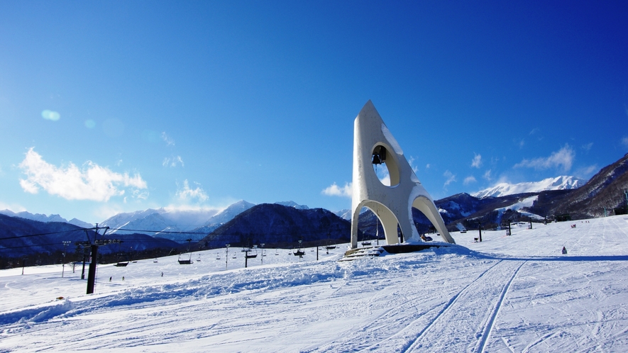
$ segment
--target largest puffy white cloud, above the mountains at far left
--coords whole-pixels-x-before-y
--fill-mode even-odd
[[[33,147],[18,167],[26,174],[26,179],[20,179],[24,191],[37,194],[41,188],[67,200],[109,201],[112,196],[123,195],[124,187],[147,188],[140,174],[130,177],[128,173],[111,172],[91,161],[85,162],[82,169],[71,162],[67,167],[56,167],[45,162]]]

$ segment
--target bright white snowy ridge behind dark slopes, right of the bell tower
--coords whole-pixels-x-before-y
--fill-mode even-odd
[[[531,181],[519,184],[500,183],[488,189],[480,190],[475,194],[471,194],[471,196],[483,198],[487,196],[497,197],[529,192],[541,192],[545,190],[578,189],[585,183],[586,180],[563,175],[561,177],[547,178],[541,181]]]

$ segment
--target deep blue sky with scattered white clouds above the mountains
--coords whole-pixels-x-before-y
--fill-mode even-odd
[[[628,152],[626,18],[625,1],[1,1],[0,209],[350,208],[368,99],[434,198],[588,179]]]

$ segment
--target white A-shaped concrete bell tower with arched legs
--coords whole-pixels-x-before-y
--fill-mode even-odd
[[[373,164],[385,163],[390,186],[382,184]],[[434,205],[434,200],[414,174],[397,140],[392,136],[371,101],[353,122],[353,198],[351,202],[351,248],[358,247],[358,217],[369,208],[380,219],[388,245],[399,243],[397,225],[405,240],[420,242],[412,219],[412,207],[421,211],[446,242],[455,243]]]

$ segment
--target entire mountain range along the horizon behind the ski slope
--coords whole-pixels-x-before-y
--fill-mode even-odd
[[[582,181],[574,177],[556,177],[537,183],[498,185],[473,195],[463,193],[448,196],[436,200],[435,204],[449,230],[474,229],[478,224],[483,228],[499,228],[507,222],[551,220],[556,215],[565,214],[573,219],[610,215],[627,205],[624,191],[628,189],[628,154],[602,168],[585,184],[575,188],[580,183]],[[512,192],[517,194],[510,194]],[[10,216],[4,216],[6,218],[15,218],[22,222],[16,225],[4,218],[0,239],[55,232],[70,226],[73,227],[72,230],[88,228],[87,226],[91,228],[91,225],[78,220],[72,221],[79,224],[70,224],[72,221],[67,222],[60,215],[12,213],[8,210],[0,213]],[[431,223],[422,213],[413,210],[413,217],[419,232],[431,230]],[[224,246],[226,241],[241,245],[247,242],[265,242],[294,246],[297,240],[347,240],[350,219],[351,212],[348,210],[331,213],[292,201],[253,205],[242,200],[223,211],[174,211],[159,208],[120,213],[99,225],[109,226],[111,237],[143,233],[178,243],[193,239],[195,242],[199,241],[199,247]],[[360,232],[363,232],[360,237],[382,237],[381,227],[377,226],[378,220],[372,212],[363,210],[358,224]],[[20,244],[12,242],[11,248],[31,246],[44,252],[60,249],[60,240],[50,240],[50,244],[52,243],[55,243],[53,247],[46,248],[43,245],[48,242],[45,241],[36,244],[31,240]],[[9,246],[3,243],[2,247]]]

